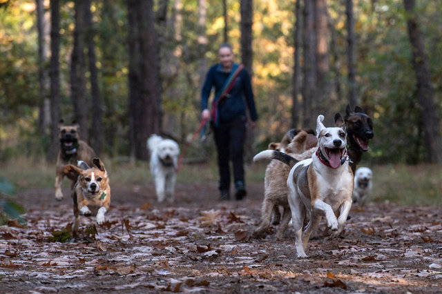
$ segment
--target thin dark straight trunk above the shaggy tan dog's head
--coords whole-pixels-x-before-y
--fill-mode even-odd
[[[299,113],[300,113],[300,105],[298,101],[299,87],[300,87],[300,49],[301,49],[301,37],[302,37],[302,28],[301,28],[301,0],[296,0],[295,6],[295,38],[294,38],[294,70],[292,77],[292,100],[293,106],[291,108],[291,127],[298,128],[299,123]]]

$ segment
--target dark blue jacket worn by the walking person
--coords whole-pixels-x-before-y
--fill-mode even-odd
[[[230,72],[224,72],[222,70],[221,63],[215,64],[207,72],[206,81],[201,90],[201,110],[208,107],[209,96],[212,87],[215,87],[215,96],[220,95],[222,91],[222,86],[224,86],[225,81],[229,77]],[[244,103],[245,101],[245,103]],[[236,78],[233,88],[224,97],[218,106],[218,119],[220,122],[228,122],[236,117],[246,115],[246,103],[249,108],[250,118],[252,121],[258,119],[256,113],[255,101],[253,100],[253,92],[251,90],[251,81],[249,72],[243,68]]]

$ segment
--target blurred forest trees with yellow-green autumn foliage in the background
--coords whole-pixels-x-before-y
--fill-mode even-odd
[[[441,161],[442,6],[423,0],[0,0],[0,160],[55,157],[60,118],[109,157],[198,128],[229,41],[260,115],[249,150],[358,104],[367,160]]]

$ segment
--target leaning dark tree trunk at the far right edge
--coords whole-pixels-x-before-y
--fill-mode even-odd
[[[428,161],[439,164],[442,162],[442,140],[439,119],[436,117],[430,66],[425,54],[422,32],[419,29],[419,19],[414,11],[415,0],[404,0],[403,2],[407,12],[407,28],[412,46],[413,67],[416,73],[417,96],[421,106],[421,125],[425,150],[427,150]]]

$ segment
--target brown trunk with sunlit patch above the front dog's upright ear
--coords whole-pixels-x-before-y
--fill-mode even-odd
[[[316,114],[326,113],[330,108],[329,97],[329,30],[327,3],[325,0],[314,0],[315,35],[316,35]]]

